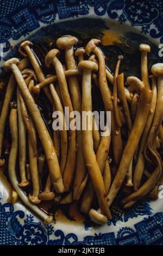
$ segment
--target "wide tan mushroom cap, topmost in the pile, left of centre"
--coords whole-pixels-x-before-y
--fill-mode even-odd
[[[76,45],[78,39],[74,36],[62,36],[61,38],[57,39],[56,45],[59,49],[63,50],[66,48],[71,48]]]

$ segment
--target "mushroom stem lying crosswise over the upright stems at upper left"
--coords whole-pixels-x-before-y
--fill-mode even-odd
[[[81,72],[78,69],[69,69],[69,70],[65,70],[65,77],[71,77],[71,76],[79,76],[81,75]],[[40,82],[39,84],[37,84],[34,88],[33,88],[33,92],[35,94],[39,94],[40,90],[42,88],[44,88],[45,86],[48,86],[48,84],[57,82],[58,78],[56,75],[50,76],[48,78],[46,78],[44,81]]]

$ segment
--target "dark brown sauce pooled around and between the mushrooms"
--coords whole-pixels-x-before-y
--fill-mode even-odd
[[[78,23],[78,21],[77,21],[77,23]],[[72,25],[71,22],[70,22],[70,24]],[[33,42],[32,50],[35,54],[36,59],[38,60],[39,64],[41,65],[41,68],[42,68],[45,76],[48,74],[55,74],[53,67],[51,67],[50,69],[46,68],[44,59],[45,59],[47,52],[49,50],[51,50],[52,48],[56,47],[55,42],[56,42],[57,38],[59,38],[60,36],[65,36],[65,35],[77,36],[78,45],[76,46],[76,48],[85,47],[85,45],[91,38],[98,38],[98,39],[101,39],[103,42],[103,36],[105,35],[105,31],[107,31],[108,28],[104,24],[102,26],[99,26],[99,24],[97,24],[96,29],[94,28],[94,26],[95,25],[92,23],[92,31],[90,31],[90,30],[84,31],[84,29],[81,30],[81,28],[80,28],[80,29],[78,29],[78,31],[79,31],[78,33],[75,29],[72,31],[71,30],[65,31],[64,29],[58,29],[58,30],[55,29],[54,33],[52,33],[53,32],[53,30],[52,30],[51,33],[46,35],[46,31],[45,31],[44,32],[45,36],[43,36],[41,39],[36,39],[36,40],[30,39]],[[136,37],[135,36],[136,36],[136,34],[127,33],[125,36],[120,35],[118,38],[118,42],[116,42],[116,41],[112,42],[112,44],[110,44],[110,45],[103,45],[103,44],[99,45],[99,47],[101,48],[101,50],[104,53],[107,68],[112,72],[112,74],[114,74],[117,57],[119,55],[122,55],[123,61],[121,64],[120,73],[124,72],[125,79],[127,76],[130,76],[130,75],[135,75],[140,78],[141,54],[139,52],[138,45],[142,42],[147,43],[152,46],[152,52],[148,54],[149,69],[151,68],[152,64],[159,62],[158,54],[157,54],[158,50],[156,50],[157,49],[156,46],[143,36],[140,36],[140,35],[136,36]],[[16,53],[15,57],[21,58],[21,56],[19,56],[18,53]],[[61,51],[59,58],[60,58],[62,64],[64,64],[65,63],[64,51]],[[28,68],[32,69],[32,66],[29,66]],[[4,100],[5,88],[7,87],[8,81],[9,81],[9,76],[6,74],[2,74],[0,77],[1,107],[2,107],[3,100]],[[16,101],[16,90],[14,92],[12,101]],[[51,137],[53,137],[53,130],[52,130],[53,109],[52,109],[51,104],[49,104],[49,101],[47,100],[46,95],[43,93],[43,90],[41,90],[40,95],[36,97],[35,101],[36,101],[37,107],[39,108],[39,110],[41,112],[42,118],[45,121],[47,129],[48,129]],[[101,92],[95,86],[95,84],[92,84],[92,104],[93,104],[93,111],[95,111],[95,110],[96,111],[104,111],[104,104],[102,101]],[[125,139],[125,136],[123,139]],[[3,168],[3,173],[4,173],[5,177],[7,178],[8,182],[10,182],[9,178],[8,178],[8,168],[7,168],[10,147],[11,147],[11,135],[10,135],[10,131],[9,131],[9,115],[8,115],[7,125],[6,125],[6,129],[4,132],[4,142],[3,142],[3,157],[6,161],[5,167]],[[43,148],[42,148],[42,145],[41,145],[41,142],[40,142],[40,139],[38,136],[37,136],[37,149],[38,149],[38,151],[37,151],[38,155],[44,154],[44,151],[43,151]],[[8,154],[4,154],[4,152],[7,152]],[[109,157],[112,159],[111,149],[109,152]],[[27,145],[27,162],[29,162],[28,145]],[[111,167],[112,166],[114,166],[114,161],[111,162]],[[16,169],[18,170],[18,161],[17,161]],[[47,166],[47,162],[45,162],[43,174],[40,177],[41,190],[43,189],[43,187],[45,187],[47,176],[48,176],[48,166]],[[17,177],[18,177],[18,180],[20,180],[18,171],[17,171]],[[24,191],[27,194],[29,192],[32,192],[32,185],[30,184],[29,187],[24,189]],[[123,208],[120,205],[121,199],[122,199],[122,196],[117,196],[114,201],[114,204],[112,205],[111,211],[112,211],[113,219],[117,215],[121,215],[123,213]],[[46,211],[48,214],[53,214],[54,219],[57,221],[58,220],[62,220],[62,221],[69,220],[71,222],[74,222],[74,221],[84,222],[87,226],[95,225],[93,223],[90,224],[89,218],[87,216],[85,216],[84,214],[82,214],[82,212],[80,212],[79,205],[80,205],[80,202],[72,202],[71,204],[59,205],[59,204],[54,203],[53,201],[49,201],[49,202],[42,201],[38,206],[40,207],[40,209]],[[95,209],[98,208],[96,199],[93,202],[93,208],[95,208]]]

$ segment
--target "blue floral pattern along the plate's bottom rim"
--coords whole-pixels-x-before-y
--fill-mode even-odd
[[[148,205],[144,205],[144,215],[147,215],[146,208]],[[136,210],[133,211],[136,214]],[[11,204],[0,203],[0,245],[161,245],[162,243],[162,212],[145,217],[137,222],[134,228],[121,227],[117,234],[95,233],[79,241],[74,233],[65,234],[60,229],[56,230],[53,224],[45,227],[41,222],[34,222],[33,215],[25,216],[23,211],[14,211]]]

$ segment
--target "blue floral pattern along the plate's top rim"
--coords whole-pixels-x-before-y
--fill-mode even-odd
[[[108,14],[110,19],[120,24],[129,22],[131,26],[141,26],[142,33],[153,38],[163,36],[163,5],[159,0],[2,0],[0,10],[0,42],[5,43],[4,52],[10,49],[10,39],[17,40],[22,35],[59,19],[87,15],[93,9],[95,15]],[[151,25],[155,28],[151,28]]]

